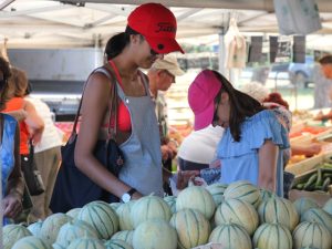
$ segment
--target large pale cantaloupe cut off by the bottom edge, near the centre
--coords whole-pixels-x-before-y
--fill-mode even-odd
[[[177,235],[164,219],[149,219],[138,225],[134,231],[135,249],[176,249]]]

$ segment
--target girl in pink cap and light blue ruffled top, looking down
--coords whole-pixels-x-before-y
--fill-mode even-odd
[[[288,132],[272,111],[232,87],[220,73],[200,72],[189,86],[195,129],[209,124],[225,128],[217,146],[220,181],[249,180],[283,196],[283,153]]]

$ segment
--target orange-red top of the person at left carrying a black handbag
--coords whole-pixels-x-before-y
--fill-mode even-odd
[[[6,108],[2,111],[3,113],[18,111],[23,107],[23,98],[22,97],[13,97],[6,103]],[[27,155],[29,154],[29,131],[24,121],[20,122],[20,154]]]

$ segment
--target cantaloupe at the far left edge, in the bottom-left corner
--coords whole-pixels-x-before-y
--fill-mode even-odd
[[[11,249],[15,241],[32,236],[32,234],[21,225],[10,224],[2,229],[3,249]]]

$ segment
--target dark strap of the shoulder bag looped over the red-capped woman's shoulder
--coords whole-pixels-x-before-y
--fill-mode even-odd
[[[105,71],[103,71],[105,70]],[[113,73],[110,69],[107,69],[107,66],[101,66],[101,68],[97,68],[95,69],[87,77],[87,80],[85,81],[84,83],[84,86],[83,86],[83,93],[82,93],[82,96],[81,96],[81,101],[80,101],[80,104],[79,104],[79,108],[77,108],[77,112],[76,112],[76,116],[75,116],[75,120],[74,120],[74,125],[73,125],[73,129],[72,129],[72,133],[71,133],[71,138],[74,137],[77,132],[76,132],[76,126],[77,126],[77,122],[79,122],[79,117],[80,117],[80,112],[81,112],[81,107],[82,107],[82,102],[83,102],[83,96],[84,96],[84,92],[85,92],[85,89],[86,89],[86,85],[87,85],[87,82],[91,77],[91,75],[93,75],[94,73],[96,72],[102,72],[104,73],[110,82],[111,82],[111,97],[110,97],[110,121],[108,121],[108,127],[107,127],[107,141],[108,139],[114,139],[115,141],[115,135],[116,135],[116,126],[117,126],[117,91],[116,91],[116,81],[112,81],[114,80],[114,76],[113,76]],[[112,127],[111,123],[112,123],[112,113],[114,114],[114,125]]]

